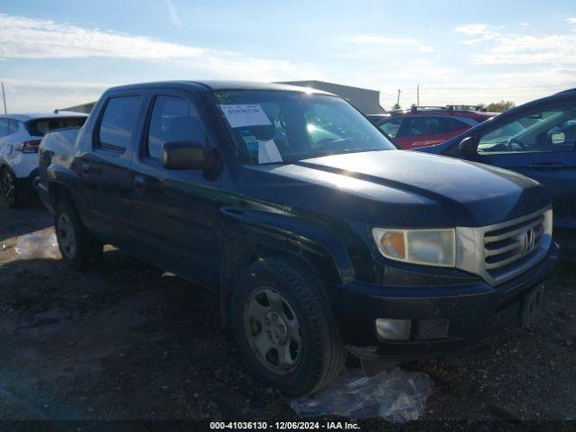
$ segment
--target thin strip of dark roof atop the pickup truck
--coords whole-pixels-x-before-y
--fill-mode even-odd
[[[299,92],[299,93],[314,93],[314,94],[330,94],[335,95],[323,90],[318,90],[310,87],[302,87],[300,85],[287,85],[276,83],[261,83],[255,81],[220,81],[220,80],[203,80],[203,81],[158,81],[152,83],[120,85],[112,87],[110,90],[130,90],[131,88],[146,88],[146,87],[181,87],[190,88],[194,87],[196,90],[280,90],[285,92]]]

